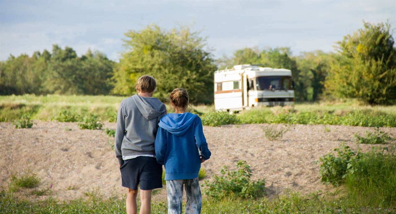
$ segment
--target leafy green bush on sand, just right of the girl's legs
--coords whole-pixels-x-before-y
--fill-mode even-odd
[[[215,175],[214,181],[205,181],[206,195],[213,199],[225,197],[256,198],[266,194],[265,179],[251,180],[252,172],[246,161],[238,161],[237,170],[230,171],[223,166],[221,176]]]

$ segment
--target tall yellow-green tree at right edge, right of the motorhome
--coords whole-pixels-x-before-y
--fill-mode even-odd
[[[396,100],[396,49],[389,23],[370,24],[337,42],[325,86],[337,97],[369,104]]]

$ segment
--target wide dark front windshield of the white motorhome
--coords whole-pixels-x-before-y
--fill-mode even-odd
[[[290,76],[259,76],[257,90],[292,90]]]

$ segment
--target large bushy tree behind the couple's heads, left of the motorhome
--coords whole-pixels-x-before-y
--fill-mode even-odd
[[[192,103],[213,102],[213,72],[217,70],[206,39],[188,27],[164,30],[148,25],[125,34],[120,63],[114,69],[113,93],[135,93],[137,78],[157,80],[156,97],[168,97],[177,88],[187,89]]]

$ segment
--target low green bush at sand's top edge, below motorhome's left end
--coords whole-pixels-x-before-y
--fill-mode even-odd
[[[209,112],[204,114],[202,117],[202,125],[208,126],[221,126],[227,124],[238,124],[239,119],[235,114],[229,114],[228,112]]]

